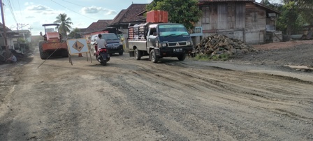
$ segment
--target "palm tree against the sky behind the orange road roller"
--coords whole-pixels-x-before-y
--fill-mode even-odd
[[[67,15],[64,14],[59,14],[57,16],[57,20],[54,21],[55,24],[60,24],[59,26],[59,33],[61,33],[63,36],[66,36],[67,38],[67,33],[69,33],[71,30],[71,25],[73,22],[71,22],[71,17],[67,17]]]

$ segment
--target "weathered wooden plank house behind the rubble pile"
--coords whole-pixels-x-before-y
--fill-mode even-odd
[[[254,0],[198,0],[198,6],[203,17],[196,27],[202,27],[203,36],[223,34],[247,44],[265,43],[267,24],[275,27],[279,14]]]

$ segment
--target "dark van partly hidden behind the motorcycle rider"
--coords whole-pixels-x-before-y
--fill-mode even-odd
[[[101,34],[102,38],[106,41],[107,43],[107,50],[108,54],[115,54],[118,53],[119,55],[123,55],[123,44],[119,38],[117,38],[116,34]],[[94,54],[96,54],[96,49],[94,43],[96,43],[96,39],[98,39],[98,34],[93,35],[91,38],[91,47],[90,49]]]

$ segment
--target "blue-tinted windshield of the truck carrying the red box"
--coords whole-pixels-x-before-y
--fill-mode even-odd
[[[181,35],[189,35],[182,24],[159,25],[159,36],[161,37]]]

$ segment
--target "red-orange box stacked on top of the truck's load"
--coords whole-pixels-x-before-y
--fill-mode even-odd
[[[151,10],[147,12],[147,20],[146,22],[168,22],[168,11],[165,10]]]

